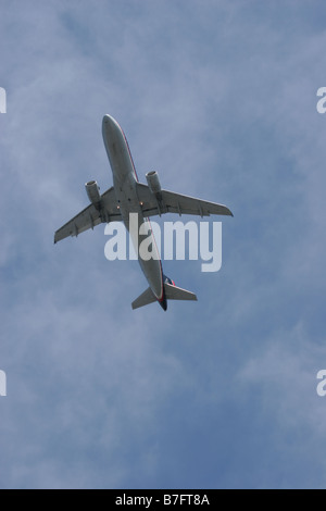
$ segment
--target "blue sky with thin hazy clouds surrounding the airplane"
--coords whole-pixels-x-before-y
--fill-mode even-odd
[[[321,1],[0,1],[0,487],[325,487],[325,46]],[[235,214],[218,273],[164,263],[197,303],[131,311],[104,226],[53,246],[105,113]]]

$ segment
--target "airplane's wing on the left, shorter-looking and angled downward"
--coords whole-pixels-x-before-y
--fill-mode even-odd
[[[113,186],[101,196],[101,207],[98,209],[89,204],[76,216],[64,224],[54,234],[54,244],[67,236],[78,236],[89,228],[93,228],[102,222],[117,222],[122,220],[117,209],[117,202]]]

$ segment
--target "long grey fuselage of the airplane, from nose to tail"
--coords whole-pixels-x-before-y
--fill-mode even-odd
[[[136,232],[135,229],[131,229],[130,235],[133,244],[138,254],[140,251],[140,245],[145,238],[147,238],[148,242],[151,244],[153,257],[149,260],[145,260],[141,257],[138,257],[138,261],[151,290],[153,291],[161,307],[166,310],[162,263],[150,222],[147,217],[143,217],[141,203],[137,196],[138,177],[127,139],[117,122],[110,115],[104,115],[103,117],[102,134],[112,169],[114,191],[121,216],[128,232],[130,230],[130,213],[137,213],[138,224],[143,224],[142,233],[146,234],[140,235],[138,229]]]

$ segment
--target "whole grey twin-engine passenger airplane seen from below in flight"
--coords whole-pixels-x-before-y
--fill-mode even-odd
[[[161,188],[155,171],[146,174],[147,185],[139,183],[135,164],[125,134],[118,123],[109,114],[102,121],[102,135],[113,174],[113,185],[102,195],[96,180],[86,183],[86,192],[90,204],[54,234],[54,244],[68,236],[78,236],[84,230],[100,223],[122,221],[129,232],[129,214],[138,213],[139,224],[145,224],[142,232],[149,233],[152,244],[152,258],[148,261],[138,258],[140,267],[149,287],[131,303],[133,309],[159,302],[164,311],[167,300],[197,300],[197,296],[177,287],[164,275],[162,262],[150,226],[150,216],[164,213],[178,213],[210,216],[211,214],[229,215],[226,205],[193,197],[175,194]],[[131,233],[130,233],[131,234]],[[131,240],[139,253],[139,246],[145,238],[139,233],[131,234]]]

